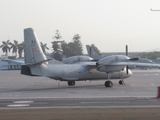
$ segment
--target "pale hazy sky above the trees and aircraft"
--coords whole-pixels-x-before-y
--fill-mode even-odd
[[[100,52],[160,51],[160,0],[0,0],[0,44],[24,40],[34,29],[52,52],[53,36],[71,42],[75,34]],[[2,50],[0,50],[0,54]]]

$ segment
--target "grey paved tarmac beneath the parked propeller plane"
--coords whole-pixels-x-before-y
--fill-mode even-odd
[[[77,81],[75,86],[46,77],[21,75],[19,70],[0,71],[0,107],[159,107],[160,70],[132,70],[133,75],[112,80]]]

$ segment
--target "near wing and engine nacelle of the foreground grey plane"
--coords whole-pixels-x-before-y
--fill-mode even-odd
[[[112,55],[102,58],[96,63],[96,65],[97,70],[101,72],[117,72],[128,66],[160,67],[160,64],[133,62],[133,59],[130,59],[125,55]]]

